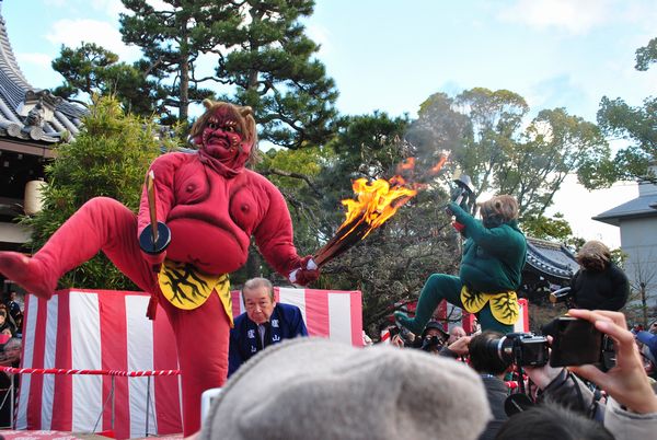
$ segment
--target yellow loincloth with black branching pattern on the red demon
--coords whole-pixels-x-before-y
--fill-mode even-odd
[[[232,300],[228,274],[201,274],[189,264],[165,259],[158,275],[158,281],[164,298],[173,306],[182,310],[194,310],[201,306],[212,290],[217,291],[232,326]]]

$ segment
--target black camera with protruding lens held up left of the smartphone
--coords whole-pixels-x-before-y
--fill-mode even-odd
[[[548,338],[533,333],[509,333],[499,339],[488,340],[488,349],[503,362],[519,367],[541,367],[550,360]]]

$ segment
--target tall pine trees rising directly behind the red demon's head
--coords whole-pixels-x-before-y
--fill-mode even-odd
[[[319,46],[300,20],[313,12],[311,0],[241,2],[123,0],[124,42],[145,53],[143,66],[166,90],[166,105],[186,123],[192,102],[215,95],[200,84],[224,88],[221,100],[255,111],[261,139],[297,149],[321,144],[332,134],[337,91],[315,58]],[[214,76],[198,78],[198,57],[217,57]],[[175,76],[173,83],[163,79]]]

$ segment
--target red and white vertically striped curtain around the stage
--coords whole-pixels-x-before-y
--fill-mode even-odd
[[[310,335],[362,346],[359,291],[276,288],[277,300],[301,309]],[[163,310],[146,317],[140,292],[68,289],[25,303],[23,368],[176,370],[174,336]],[[243,312],[238,291],[233,313]],[[150,386],[149,386],[150,383]],[[116,438],[182,431],[180,377],[22,374],[16,428],[101,432]],[[147,395],[150,402],[147,408]],[[199,403],[200,405],[200,403]],[[114,410],[113,410],[114,408]],[[148,425],[148,429],[147,429]]]

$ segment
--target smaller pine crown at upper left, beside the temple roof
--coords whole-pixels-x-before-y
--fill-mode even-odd
[[[93,43],[82,43],[77,49],[61,46],[53,69],[65,81],[54,93],[67,99],[114,95],[127,112],[141,116],[165,112],[164,91],[155,81],[147,80],[142,68],[140,62],[119,62],[116,54]]]

